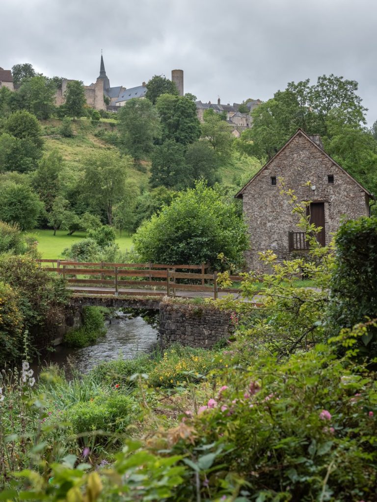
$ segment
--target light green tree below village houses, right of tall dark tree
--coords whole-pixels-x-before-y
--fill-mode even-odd
[[[212,108],[205,110],[203,119],[202,138],[212,146],[219,161],[226,162],[234,140],[230,127]]]

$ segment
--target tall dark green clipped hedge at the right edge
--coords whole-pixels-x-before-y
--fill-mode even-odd
[[[335,268],[330,283],[329,331],[377,318],[377,217],[344,222],[335,237]],[[369,326],[358,346],[374,357],[377,329]]]

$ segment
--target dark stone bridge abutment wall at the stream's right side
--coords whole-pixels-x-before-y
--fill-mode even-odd
[[[230,312],[193,304],[160,304],[160,343],[173,342],[190,347],[211,348],[229,338],[234,326]]]

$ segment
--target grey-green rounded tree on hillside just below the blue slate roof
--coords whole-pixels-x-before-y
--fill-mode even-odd
[[[160,120],[148,99],[130,99],[119,112],[121,143],[136,160],[153,149],[153,140],[160,137]]]

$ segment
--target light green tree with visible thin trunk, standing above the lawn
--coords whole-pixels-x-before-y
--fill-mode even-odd
[[[113,207],[123,198],[130,159],[112,150],[98,151],[83,165],[83,195],[93,212],[105,214],[112,225]]]

